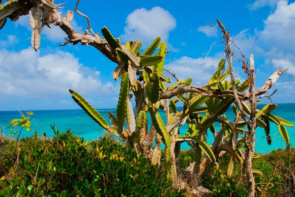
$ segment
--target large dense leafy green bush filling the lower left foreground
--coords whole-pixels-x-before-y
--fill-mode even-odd
[[[11,172],[1,178],[0,196],[183,196],[162,169],[112,138],[84,141],[70,131],[55,133],[53,139],[22,139],[17,169],[8,151],[0,152]]]

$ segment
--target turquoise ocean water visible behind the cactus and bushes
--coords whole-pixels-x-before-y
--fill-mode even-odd
[[[263,106],[258,105],[258,109]],[[181,108],[179,108],[181,110]],[[111,111],[116,114],[116,109],[98,109],[98,112],[108,120],[107,112]],[[30,117],[31,130],[23,130],[21,137],[29,137],[36,131],[40,136],[46,133],[48,137],[52,137],[54,132],[50,124],[57,126],[60,132],[65,132],[70,129],[75,135],[84,137],[86,140],[94,140],[104,135],[104,129],[94,122],[87,113],[83,110],[46,110],[46,111],[33,111],[34,114]],[[23,112],[25,113],[25,112]],[[289,122],[295,124],[295,104],[278,104],[277,108],[272,112],[274,115],[280,116]],[[162,118],[165,120],[164,112],[160,112]],[[225,113],[227,118],[233,120],[235,114],[232,107]],[[149,117],[149,115],[148,115]],[[0,111],[0,126],[4,128],[4,133],[9,135],[10,120],[20,118],[18,111]],[[150,124],[151,120],[148,119]],[[215,123],[215,129],[220,128],[219,123]],[[295,147],[295,128],[286,127],[290,136],[291,146]],[[15,129],[18,129],[15,127]],[[188,125],[180,127],[180,134],[184,135],[188,130]],[[16,130],[17,131],[17,130]],[[267,153],[268,151],[286,147],[285,142],[282,140],[278,131],[277,125],[270,123],[270,136],[272,139],[271,145],[266,143],[266,135],[263,128],[258,127],[256,130],[256,146],[255,150],[259,153]],[[212,142],[212,133],[208,130],[208,143]],[[182,143],[182,149],[187,149],[189,146]]]

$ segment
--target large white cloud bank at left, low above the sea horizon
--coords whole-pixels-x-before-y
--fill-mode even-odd
[[[59,97],[68,95],[69,88],[81,94],[104,93],[105,84],[98,77],[99,72],[83,66],[70,53],[40,56],[31,48],[17,53],[0,51],[1,96]]]

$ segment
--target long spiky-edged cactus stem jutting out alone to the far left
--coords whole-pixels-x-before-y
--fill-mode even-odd
[[[109,128],[107,121],[98,113],[80,94],[72,89],[69,89],[74,101],[100,126],[105,129]]]

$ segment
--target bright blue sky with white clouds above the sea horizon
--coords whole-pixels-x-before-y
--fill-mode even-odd
[[[55,3],[64,1],[55,0]],[[74,0],[59,9],[63,16],[74,10]],[[157,37],[167,43],[165,66],[181,80],[192,78],[202,86],[224,57],[218,18],[230,31],[234,44],[249,57],[254,54],[256,87],[263,86],[277,69],[284,73],[269,93],[275,103],[295,102],[295,2],[294,0],[123,1],[81,0],[94,32],[106,26],[121,43],[139,39],[143,48]],[[76,32],[87,29],[85,18],[74,13]],[[116,108],[119,80],[116,64],[91,46],[59,47],[66,34],[53,26],[41,32],[41,47],[30,47],[29,17],[7,21],[0,30],[0,111],[80,109],[69,88],[82,94],[96,109]],[[239,50],[234,47],[238,55]],[[242,64],[235,62],[237,79],[245,80]],[[263,103],[268,102],[265,98]]]

